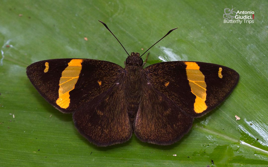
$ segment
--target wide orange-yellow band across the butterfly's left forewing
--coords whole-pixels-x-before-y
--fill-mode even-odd
[[[70,104],[69,92],[75,88],[75,84],[79,78],[79,74],[82,69],[82,59],[72,59],[68,63],[59,79],[59,98],[56,103],[61,108],[68,108]]]

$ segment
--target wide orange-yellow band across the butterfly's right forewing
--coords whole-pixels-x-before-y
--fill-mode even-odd
[[[196,113],[201,113],[207,109],[205,103],[207,93],[206,93],[206,82],[205,76],[199,70],[198,64],[195,62],[184,62],[186,65],[186,74],[191,87],[191,92],[196,96],[194,103],[194,110]]]

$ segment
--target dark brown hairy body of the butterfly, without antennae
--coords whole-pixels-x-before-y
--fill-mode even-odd
[[[133,125],[134,118],[139,108],[139,101],[141,96],[142,83],[144,83],[144,69],[139,64],[141,58],[139,53],[132,52],[126,60],[125,67],[125,96],[128,109],[128,115],[131,124]]]

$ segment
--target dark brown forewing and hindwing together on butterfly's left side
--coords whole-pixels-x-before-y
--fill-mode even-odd
[[[91,59],[44,60],[27,67],[39,93],[59,111],[73,113],[78,131],[98,146],[122,143],[132,135],[122,103],[123,75],[119,65]]]

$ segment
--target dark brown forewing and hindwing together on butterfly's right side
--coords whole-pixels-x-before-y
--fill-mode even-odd
[[[163,62],[144,70],[134,131],[140,140],[159,145],[178,141],[193,118],[220,104],[239,79],[233,69],[201,62]]]

